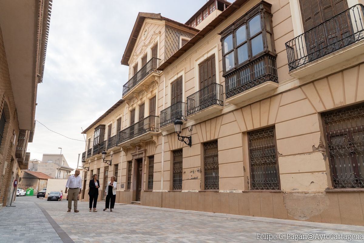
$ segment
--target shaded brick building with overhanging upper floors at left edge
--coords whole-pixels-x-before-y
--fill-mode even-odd
[[[13,181],[30,157],[26,151],[34,136],[51,3],[0,1],[0,208],[10,204]]]

